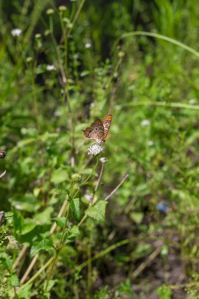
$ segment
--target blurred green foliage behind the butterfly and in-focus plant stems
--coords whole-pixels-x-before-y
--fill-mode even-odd
[[[0,0],[0,210],[14,213],[9,231],[28,247],[47,234],[64,201],[52,189],[95,165],[81,130],[108,113],[96,198],[129,175],[106,221],[88,219],[64,248],[52,298],[199,298],[198,32],[197,1]],[[81,191],[82,212],[99,174],[100,165]],[[27,251],[19,279],[30,262]],[[19,298],[39,298],[28,294]]]

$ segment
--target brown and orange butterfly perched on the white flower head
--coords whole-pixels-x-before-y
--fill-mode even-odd
[[[99,145],[104,143],[110,129],[111,120],[111,114],[108,114],[102,120],[96,120],[93,124],[91,124],[91,127],[82,130],[84,136],[92,141],[97,142]]]

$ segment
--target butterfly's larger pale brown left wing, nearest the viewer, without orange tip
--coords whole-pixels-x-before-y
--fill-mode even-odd
[[[91,127],[88,127],[82,131],[84,133],[84,136],[92,141],[101,143],[101,141],[103,140],[104,129],[103,123],[100,119],[96,120],[93,124],[91,124]]]

